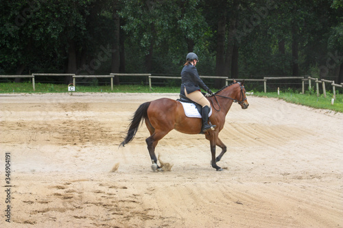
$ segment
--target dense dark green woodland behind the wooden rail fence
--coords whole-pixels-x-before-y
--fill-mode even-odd
[[[2,0],[0,25],[0,74],[179,75],[194,51],[201,75],[343,82],[342,0]]]

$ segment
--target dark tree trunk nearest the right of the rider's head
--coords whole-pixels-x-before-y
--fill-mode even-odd
[[[225,30],[226,30],[226,17],[222,16],[218,21],[217,31],[217,54],[215,60],[215,75],[224,75],[224,50],[225,50]],[[222,88],[222,80],[215,79],[215,88]]]

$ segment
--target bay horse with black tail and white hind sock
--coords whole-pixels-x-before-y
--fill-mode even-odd
[[[213,125],[216,125],[214,130],[209,130],[204,133],[205,138],[210,141],[211,146],[211,165],[217,171],[222,171],[220,166],[217,166],[217,162],[222,159],[222,156],[226,152],[226,145],[218,138],[218,134],[224,128],[225,116],[230,110],[233,102],[241,105],[242,109],[248,108],[248,101],[246,98],[246,90],[244,88],[244,81],[237,82],[233,80],[233,84],[225,86],[221,90],[218,90],[214,94],[207,96],[212,108],[212,114],[209,117],[209,121]],[[126,138],[119,144],[119,147],[125,146],[131,142],[139,129],[139,126],[143,124],[147,126],[150,132],[145,142],[147,143],[147,149],[152,160],[152,169],[161,169],[157,164],[155,155],[155,148],[158,141],[166,136],[169,131],[175,129],[184,134],[200,134],[202,127],[201,118],[189,118],[185,115],[185,111],[182,104],[179,101],[161,98],[154,101],[148,101],[142,103],[134,116],[131,119],[131,123],[128,127]],[[218,146],[222,149],[220,155],[215,157],[215,147]]]

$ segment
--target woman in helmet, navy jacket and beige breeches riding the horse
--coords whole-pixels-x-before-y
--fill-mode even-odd
[[[209,122],[209,112],[211,110],[211,104],[206,97],[200,92],[200,87],[209,94],[213,92],[207,87],[202,79],[200,79],[196,64],[198,62],[198,55],[190,52],[187,54],[186,63],[181,71],[181,90],[180,94],[186,96],[188,99],[202,105],[202,132],[206,132],[209,129],[216,127]]]

